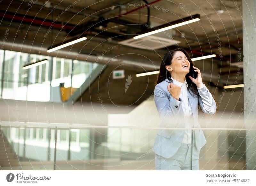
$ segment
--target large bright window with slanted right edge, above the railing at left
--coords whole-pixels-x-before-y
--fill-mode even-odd
[[[22,69],[25,64],[43,59],[48,59],[48,62],[27,70]],[[58,95],[56,90],[58,90],[60,83],[64,83],[65,88],[69,88],[71,85],[72,88],[80,88],[97,66],[98,64],[96,63],[68,58],[52,58],[49,56],[0,50],[1,97],[4,99],[47,102],[50,101],[51,90],[54,92],[52,95]],[[56,88],[51,89],[51,86]],[[67,92],[73,93],[75,90],[67,89]],[[51,101],[60,102],[60,97],[61,95],[51,97]]]

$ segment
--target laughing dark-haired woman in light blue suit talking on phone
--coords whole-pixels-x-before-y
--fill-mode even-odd
[[[198,105],[205,113],[216,111],[216,103],[202,81],[200,70],[193,66],[184,49],[165,54],[154,99],[162,127],[200,128]],[[198,170],[199,151],[205,143],[201,129],[159,130],[153,147],[156,170]]]

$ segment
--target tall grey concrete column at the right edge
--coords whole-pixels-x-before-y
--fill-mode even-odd
[[[243,0],[244,120],[255,127],[256,118],[256,1]],[[254,121],[248,121],[252,118]],[[247,120],[247,121],[246,121]],[[256,170],[256,131],[246,131],[246,169]]]

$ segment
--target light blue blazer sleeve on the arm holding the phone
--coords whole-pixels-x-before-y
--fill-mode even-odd
[[[198,105],[201,107],[202,111],[208,114],[214,114],[216,112],[216,103],[212,97],[212,94],[204,85],[203,88],[198,89]]]

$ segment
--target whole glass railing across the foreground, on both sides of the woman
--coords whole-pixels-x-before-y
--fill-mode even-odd
[[[2,126],[0,166],[2,170],[155,170],[152,147],[158,129]],[[255,148],[246,144],[255,142],[253,132],[204,129],[207,143],[200,150],[199,170],[253,170]]]

